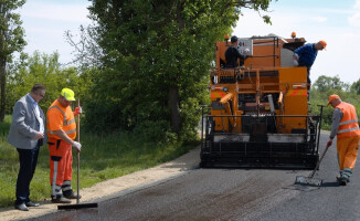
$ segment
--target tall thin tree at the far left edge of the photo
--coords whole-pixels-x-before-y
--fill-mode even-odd
[[[6,113],[7,63],[11,62],[13,52],[23,50],[24,30],[20,14],[14,10],[21,8],[25,0],[0,0],[0,120]]]

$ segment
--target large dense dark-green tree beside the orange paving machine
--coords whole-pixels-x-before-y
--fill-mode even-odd
[[[107,128],[117,123],[148,127],[159,136],[170,130],[193,135],[215,41],[231,32],[241,8],[266,10],[269,2],[93,0],[91,18],[104,56],[92,93],[94,115],[87,117],[93,125],[109,120]],[[106,116],[96,106],[109,108]]]

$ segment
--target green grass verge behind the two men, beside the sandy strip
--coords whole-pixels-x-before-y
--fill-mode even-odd
[[[0,208],[13,206],[19,171],[18,151],[7,143],[11,117],[0,123]],[[159,145],[144,143],[126,133],[95,136],[81,133],[83,149],[80,164],[81,188],[97,182],[147,169],[172,160],[199,143]],[[76,151],[73,150],[73,189],[76,190]],[[49,199],[50,189],[49,149],[40,149],[38,167],[30,186],[30,198],[34,201]]]

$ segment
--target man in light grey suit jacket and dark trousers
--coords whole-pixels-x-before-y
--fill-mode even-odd
[[[45,86],[35,84],[31,92],[14,105],[8,141],[19,152],[20,169],[17,181],[15,209],[29,211],[39,207],[30,200],[30,182],[35,172],[39,149],[43,145],[45,117],[38,103],[45,96]]]

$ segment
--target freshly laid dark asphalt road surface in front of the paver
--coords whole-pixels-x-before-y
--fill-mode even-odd
[[[328,135],[321,135],[320,151]],[[336,143],[335,143],[336,144]],[[336,145],[315,176],[320,188],[294,186],[308,170],[194,169],[98,203],[32,220],[360,220],[360,170],[339,187]]]

